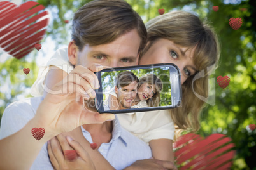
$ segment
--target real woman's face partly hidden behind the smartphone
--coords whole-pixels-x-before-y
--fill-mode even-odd
[[[186,48],[167,39],[158,39],[139,60],[139,65],[174,63],[180,69],[181,84],[197,71],[193,62],[195,48]]]

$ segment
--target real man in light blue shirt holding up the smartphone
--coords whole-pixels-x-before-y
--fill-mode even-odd
[[[102,149],[101,154],[106,159],[110,155],[108,161],[112,160],[111,164],[117,169],[127,167],[137,159],[150,157],[150,148],[145,143],[139,143],[134,136],[131,137],[127,131],[120,128],[120,125],[118,128],[118,120],[106,121],[107,118],[113,119],[113,115],[98,114],[83,108],[83,98],[94,98],[95,92],[92,89],[99,88],[99,82],[93,74],[96,71],[94,63],[109,67],[138,64],[139,53],[146,43],[146,29],[141,18],[124,1],[92,1],[75,13],[72,37],[73,41],[69,42],[68,46],[68,56],[70,63],[76,67],[63,81],[60,79],[59,83],[50,85],[52,91],[62,93],[48,94],[44,100],[43,98],[31,98],[18,101],[6,108],[1,123],[0,137],[4,138],[15,133],[5,140],[8,149],[4,152],[6,152],[6,157],[11,158],[11,161],[16,164],[7,164],[3,167],[29,169],[34,162],[32,169],[52,168],[46,145],[43,143],[61,132],[71,131],[80,125],[83,126],[76,128],[69,135],[79,143],[84,143],[85,138],[93,141],[100,152]],[[66,93],[64,93],[65,90]],[[80,93],[79,102],[75,101],[77,93]],[[99,122],[104,123],[90,124]],[[35,127],[45,129],[43,138],[38,141],[31,135],[31,129]],[[85,137],[81,138],[81,136]],[[60,138],[61,135],[59,135],[59,140]],[[129,142],[134,145],[129,145]],[[70,150],[64,141],[57,145],[64,153],[67,149]],[[122,147],[125,147],[127,153],[122,151]],[[58,148],[52,147],[52,149],[57,151]],[[97,152],[97,150],[94,151]],[[133,155],[131,151],[135,154]],[[88,152],[96,169],[102,168],[95,162],[97,160],[94,159],[92,149]],[[114,157],[117,153],[122,156]],[[38,155],[37,158],[36,155]],[[122,159],[118,160],[118,158]],[[3,162],[10,162],[8,159],[1,157]],[[126,160],[128,162],[125,162]],[[145,164],[145,162],[142,163]],[[146,164],[163,166],[155,160],[146,160]],[[141,162],[133,166],[138,165],[141,166]]]

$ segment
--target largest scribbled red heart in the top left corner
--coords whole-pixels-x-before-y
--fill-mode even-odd
[[[49,18],[38,22],[48,15],[43,5],[28,1],[19,7],[16,4],[0,2],[0,47],[11,56],[20,59],[30,53],[34,44],[43,39]]]

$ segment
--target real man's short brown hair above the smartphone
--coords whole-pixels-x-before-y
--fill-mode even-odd
[[[72,39],[82,51],[85,44],[107,44],[133,29],[141,37],[141,51],[146,44],[146,28],[138,13],[122,0],[95,0],[76,11]]]

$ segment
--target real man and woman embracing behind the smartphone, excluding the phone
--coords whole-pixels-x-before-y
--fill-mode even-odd
[[[17,101],[4,110],[0,169],[174,169],[173,122],[182,129],[199,127],[198,114],[204,102],[194,95],[192,79],[218,62],[214,32],[197,16],[183,11],[153,18],[145,28],[125,1],[99,0],[75,13],[72,39],[68,48],[53,55],[42,80],[58,94],[45,91],[45,98]],[[75,66],[71,72],[58,69],[67,61]],[[176,64],[183,84],[182,107],[131,115],[99,114],[83,107],[83,98],[96,96],[99,82],[94,72],[101,70],[101,65],[138,63]],[[207,96],[207,82],[208,76],[197,80],[194,90]],[[76,102],[78,93],[81,97]],[[35,127],[45,128],[41,140],[31,134]],[[90,144],[96,144],[96,149]],[[69,161],[67,151],[73,149],[78,156]]]

